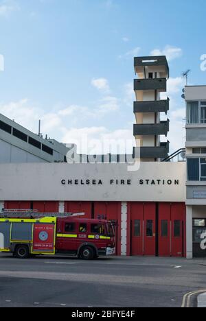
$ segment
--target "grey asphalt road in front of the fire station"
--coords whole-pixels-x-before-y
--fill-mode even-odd
[[[206,289],[203,260],[0,254],[0,307],[181,307],[185,294],[200,289]]]

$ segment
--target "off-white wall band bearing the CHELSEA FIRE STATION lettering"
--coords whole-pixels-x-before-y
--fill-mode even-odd
[[[0,165],[0,201],[148,201],[185,202],[185,163],[141,163],[139,171],[123,164],[7,164]],[[135,169],[130,167],[130,169]],[[79,184],[62,185],[62,180]],[[81,185],[84,182],[84,185]],[[102,180],[102,185],[86,185],[86,180]],[[111,180],[114,183],[111,184]],[[115,180],[118,180],[116,185]],[[121,185],[120,180],[130,180]],[[144,180],[144,185],[140,184]],[[156,185],[145,180],[155,180]],[[161,180],[158,182],[157,180]],[[172,180],[172,185],[163,180]],[[179,180],[179,185],[174,185]]]

